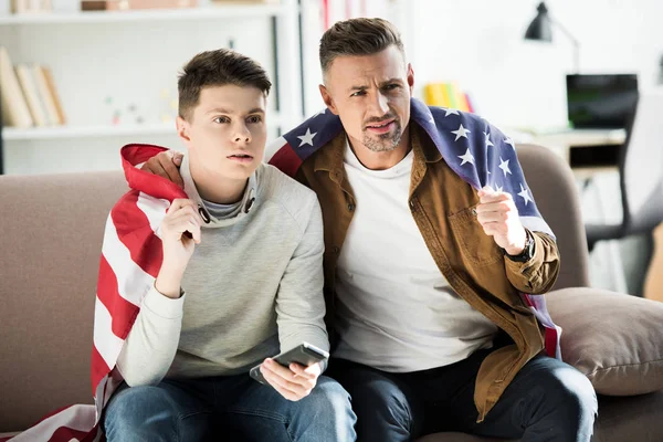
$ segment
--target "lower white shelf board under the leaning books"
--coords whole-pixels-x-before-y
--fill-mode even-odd
[[[275,128],[283,124],[283,119],[272,115],[269,117],[267,127]],[[66,139],[66,138],[94,138],[94,137],[123,137],[144,135],[172,135],[176,136],[175,122],[150,123],[150,124],[119,124],[98,126],[52,126],[29,127],[19,129],[14,127],[2,128],[4,141],[31,141],[41,139]]]

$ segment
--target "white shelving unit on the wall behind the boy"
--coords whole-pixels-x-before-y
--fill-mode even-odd
[[[71,6],[75,7],[76,4],[72,2]],[[145,51],[144,57],[156,60],[155,64],[158,66],[148,64],[145,69],[146,72],[136,71],[135,77],[139,81],[137,85],[129,85],[126,92],[122,90],[125,93],[125,99],[129,99],[127,97],[138,96],[147,87],[151,87],[149,75],[154,76],[154,72],[158,74],[165,71],[160,67],[166,65],[166,62],[170,63],[168,66],[170,72],[168,72],[169,76],[166,77],[166,81],[171,80],[169,83],[160,77],[158,80],[161,82],[160,84],[175,86],[175,70],[171,69],[173,63],[181,67],[181,64],[196,52],[225,46],[229,35],[231,35],[239,43],[235,45],[236,50],[259,60],[270,73],[273,87],[270,96],[267,127],[270,138],[281,135],[282,131],[301,123],[304,115],[302,90],[304,72],[299,50],[301,20],[298,0],[282,0],[277,4],[211,6],[202,3],[198,8],[177,10],[108,12],[62,10],[41,14],[0,14],[0,40],[3,40],[3,44],[8,44],[10,50],[13,42],[13,50],[18,53],[12,56],[14,63],[27,61],[41,63],[43,60],[44,64],[53,66],[59,88],[62,84],[62,91],[59,92],[65,105],[67,123],[70,123],[66,126],[0,127],[0,173],[32,172],[28,165],[30,161],[44,169],[36,170],[36,173],[87,170],[87,165],[78,152],[88,155],[90,164],[94,164],[95,159],[98,162],[99,158],[104,156],[115,158],[114,154],[112,156],[107,152],[96,155],[94,149],[97,146],[102,146],[104,149],[118,149],[125,143],[150,143],[154,140],[156,144],[178,148],[179,140],[175,133],[175,123],[161,123],[156,114],[140,124],[129,122],[127,118],[127,122],[114,125],[109,118],[99,117],[101,93],[90,99],[97,108],[97,115],[94,115],[96,118],[91,116],[94,114],[94,109],[91,108],[92,112],[87,112],[84,107],[86,103],[78,95],[85,95],[87,91],[91,91],[87,95],[95,94],[96,91],[93,88],[95,84],[86,83],[87,78],[76,82],[69,75],[81,76],[81,72],[88,67],[83,64],[81,59],[86,56],[91,49],[96,51],[97,48],[99,52],[114,51],[115,46],[124,49],[124,53],[120,51],[117,55],[117,61],[108,60],[105,66],[98,66],[94,62],[90,63],[90,76],[103,76],[104,83],[110,83],[114,75],[119,77],[119,80],[115,80],[120,85],[131,82],[133,76],[123,70],[122,63],[129,66],[140,63],[143,55],[138,53],[140,50]],[[144,31],[144,29],[149,29],[149,31]],[[155,38],[150,44],[145,43],[145,40],[140,38],[130,40],[127,36],[124,42],[122,41],[124,34],[149,38],[152,30],[159,38]],[[168,43],[164,43],[162,46],[154,44],[160,40],[161,35],[164,35],[164,40],[167,39],[171,30],[181,32],[186,36],[193,34],[194,39],[189,43],[187,55],[176,55],[185,52],[182,48],[186,42],[182,43],[182,48],[175,48],[175,51],[170,50]],[[207,32],[204,35],[197,35],[203,31]],[[225,35],[223,35],[224,33]],[[117,35],[119,35],[119,43],[110,41]],[[210,38],[209,35],[219,36]],[[206,42],[197,44],[196,38],[198,41],[204,40]],[[93,43],[87,40],[92,40]],[[187,39],[182,38],[181,40]],[[4,43],[6,41],[8,43]],[[245,43],[244,46],[243,43]],[[33,48],[36,51],[33,52]],[[81,51],[80,57],[75,56],[77,50]],[[60,57],[57,57],[59,54]],[[152,71],[148,73],[150,67]],[[109,81],[106,81],[106,76]],[[78,91],[78,83],[81,84],[80,90],[85,92]],[[105,86],[105,84],[102,85]],[[150,92],[155,95],[154,91]],[[140,97],[138,96],[138,98]],[[67,106],[71,102],[77,102],[77,107],[75,105]],[[150,110],[154,110],[154,107],[152,103]],[[83,146],[86,150],[83,149]],[[63,154],[71,151],[71,157],[77,161],[75,168],[66,169],[64,166],[59,166],[53,170],[46,170],[46,166],[51,167],[54,162],[52,159],[49,162],[48,158],[53,154],[48,154],[48,150],[63,151]],[[40,158],[42,156],[43,159]],[[99,158],[93,158],[95,156]],[[10,166],[17,165],[17,161],[23,161],[23,158],[25,165]],[[67,160],[61,162],[67,164]],[[43,167],[41,167],[42,164]],[[96,165],[95,169],[98,168]]]

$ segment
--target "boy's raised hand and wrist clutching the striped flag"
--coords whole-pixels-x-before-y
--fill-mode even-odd
[[[202,220],[197,209],[196,203],[191,200],[172,200],[172,204],[161,221],[164,262],[155,287],[165,296],[179,297],[185,270],[196,244],[200,244]]]

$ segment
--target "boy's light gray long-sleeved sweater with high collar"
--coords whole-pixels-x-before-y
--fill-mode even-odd
[[[180,171],[189,198],[204,207],[186,156]],[[117,361],[124,379],[242,373],[302,341],[328,350],[323,252],[315,193],[261,165],[239,213],[203,224],[185,294],[171,299],[152,287],[145,296]]]

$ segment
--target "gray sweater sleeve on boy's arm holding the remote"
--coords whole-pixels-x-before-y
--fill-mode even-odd
[[[317,198],[311,194],[309,217],[301,225],[303,235],[281,278],[276,296],[278,338],[282,349],[303,341],[329,349],[325,328],[323,295],[323,215]]]

